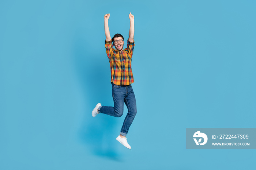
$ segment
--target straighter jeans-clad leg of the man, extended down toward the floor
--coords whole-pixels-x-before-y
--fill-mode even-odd
[[[124,119],[123,127],[121,128],[120,135],[126,136],[129,127],[137,113],[136,99],[132,86],[127,86],[127,95],[124,98],[124,103],[128,108],[128,113]]]

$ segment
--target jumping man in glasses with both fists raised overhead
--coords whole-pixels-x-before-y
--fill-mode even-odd
[[[127,135],[129,127],[131,126],[137,113],[136,99],[131,86],[131,84],[134,82],[131,68],[134,48],[134,16],[129,13],[129,39],[127,40],[127,48],[124,50],[124,37],[121,34],[114,35],[112,39],[110,37],[108,26],[109,16],[109,13],[104,16],[106,35],[105,47],[111,69],[112,97],[114,100],[114,107],[101,106],[101,104],[98,103],[91,114],[93,117],[97,116],[99,113],[120,117],[123,115],[125,103],[128,108],[128,113],[124,119],[120,135],[117,136],[116,140],[118,140],[125,147],[131,149],[131,146],[128,144],[125,136]],[[116,50],[113,49],[112,43],[116,47]]]

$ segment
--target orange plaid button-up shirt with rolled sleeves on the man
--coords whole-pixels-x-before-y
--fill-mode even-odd
[[[111,69],[111,82],[115,85],[129,85],[134,82],[132,75],[132,53],[134,42],[127,40],[127,48],[123,51],[113,49],[112,40],[105,40],[106,53]]]

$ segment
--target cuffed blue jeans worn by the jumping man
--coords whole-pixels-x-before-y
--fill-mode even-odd
[[[128,113],[124,119],[120,134],[126,136],[137,113],[136,99],[132,86],[119,86],[112,83],[112,97],[114,100],[114,107],[102,106],[100,112],[114,117],[121,117],[124,112],[125,103]]]

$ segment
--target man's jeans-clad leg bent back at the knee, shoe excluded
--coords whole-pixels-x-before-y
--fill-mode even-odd
[[[114,107],[102,106],[100,113],[106,115],[120,117],[124,112],[124,98],[126,96],[125,86],[112,85],[112,97],[114,100]]]

